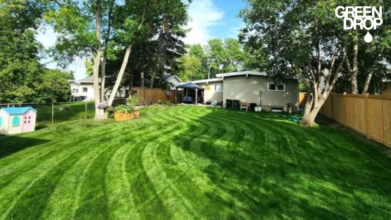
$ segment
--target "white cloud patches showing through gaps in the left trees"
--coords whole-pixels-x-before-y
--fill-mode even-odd
[[[40,42],[45,49],[56,44],[57,34],[54,32],[52,27],[41,27],[38,30],[36,40]],[[46,58],[41,60],[41,64],[44,64],[49,69],[57,69],[57,63],[53,62],[52,59]],[[67,71],[73,71],[75,79],[83,79],[86,77],[86,67],[83,64],[83,60],[80,57],[76,57],[75,61],[69,64],[66,69]]]

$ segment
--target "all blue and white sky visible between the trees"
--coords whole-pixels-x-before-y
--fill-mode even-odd
[[[193,0],[188,9],[190,22],[186,26],[191,30],[183,41],[185,44],[206,44],[215,38],[238,38],[244,24],[237,16],[245,6],[242,0]],[[51,28],[41,28],[37,40],[48,48],[56,43],[56,34]],[[41,63],[47,68],[57,66],[50,58],[42,59]],[[80,58],[66,70],[75,72],[76,80],[86,77],[86,68]]]

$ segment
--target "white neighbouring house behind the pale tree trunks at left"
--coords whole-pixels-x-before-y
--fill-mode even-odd
[[[98,79],[99,84],[101,83],[101,78]],[[81,80],[68,80],[71,92],[72,92],[72,101],[76,100],[94,100],[94,83],[92,76],[81,79]]]

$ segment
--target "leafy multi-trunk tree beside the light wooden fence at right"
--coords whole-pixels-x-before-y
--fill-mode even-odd
[[[363,41],[366,32],[359,29],[343,30],[343,20],[334,13],[339,5],[357,5],[357,2],[246,1],[249,7],[240,12],[240,17],[246,23],[241,40],[255,49],[266,51],[269,59],[267,73],[276,82],[286,81],[293,76],[300,77],[309,88],[301,123],[305,126],[313,125],[347,60],[353,61],[351,72],[357,71],[354,67],[357,63],[355,39]],[[367,5],[369,2],[361,3],[359,5]],[[324,88],[321,87],[322,81]]]

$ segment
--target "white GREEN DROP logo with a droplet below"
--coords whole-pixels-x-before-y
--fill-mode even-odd
[[[349,16],[350,15],[350,16]],[[383,23],[382,19],[382,7],[379,9],[371,6],[338,6],[335,9],[335,16],[337,18],[344,18],[344,29],[366,29],[367,35],[364,37],[364,41],[367,43],[372,42],[372,35],[369,34],[369,30],[376,30],[376,27]]]

